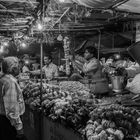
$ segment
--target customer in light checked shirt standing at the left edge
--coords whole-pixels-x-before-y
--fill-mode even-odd
[[[23,138],[23,124],[20,118],[25,111],[23,95],[17,83],[19,63],[15,57],[2,61],[3,74],[0,76],[0,139]]]

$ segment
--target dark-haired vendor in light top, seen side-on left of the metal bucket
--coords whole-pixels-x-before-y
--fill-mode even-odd
[[[97,59],[97,49],[93,46],[86,47],[84,58],[86,62],[83,65],[83,72],[85,79],[89,81],[91,91],[99,94],[108,92],[108,82],[102,72],[102,66]]]

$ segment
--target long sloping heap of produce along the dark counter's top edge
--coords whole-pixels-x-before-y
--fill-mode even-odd
[[[82,132],[90,118],[90,112],[96,107],[96,101],[80,98],[78,94],[61,91],[58,87],[43,85],[40,102],[40,84],[29,83],[23,91],[25,101],[31,108],[39,108],[46,116]]]

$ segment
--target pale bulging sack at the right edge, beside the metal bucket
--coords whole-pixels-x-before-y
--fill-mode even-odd
[[[135,94],[140,93],[140,74],[137,74],[132,81],[127,81],[126,89]]]

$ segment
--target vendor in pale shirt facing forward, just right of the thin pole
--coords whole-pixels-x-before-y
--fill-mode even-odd
[[[52,62],[52,57],[50,55],[44,56],[44,67],[42,71],[47,80],[52,80],[54,77],[58,77],[58,67]],[[31,71],[32,74],[40,74],[40,70]]]

